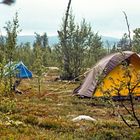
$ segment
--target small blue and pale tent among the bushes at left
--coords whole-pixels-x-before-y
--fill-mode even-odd
[[[28,70],[28,68],[23,64],[22,61],[20,61],[19,63],[8,63],[5,68],[6,68],[6,72],[5,75],[9,75],[10,72],[8,71],[8,68],[11,67],[11,73],[12,75],[14,75],[16,78],[32,78],[32,72],[30,70]],[[8,72],[7,72],[8,71]]]

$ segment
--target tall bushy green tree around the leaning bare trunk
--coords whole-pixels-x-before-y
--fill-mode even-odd
[[[99,56],[99,51],[102,49],[102,42],[101,37],[93,33],[90,24],[87,24],[85,19],[80,25],[75,24],[74,16],[71,12],[67,23],[66,46],[64,46],[64,23],[63,21],[62,27],[58,31],[60,44],[56,49],[58,51],[58,60],[60,60],[61,64],[61,78],[72,80],[81,74],[84,66],[88,62],[88,60],[85,62],[85,59],[89,55],[88,50],[91,50],[91,48],[94,50],[98,49]]]

